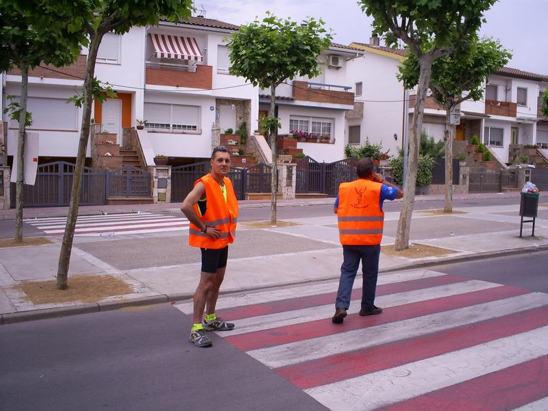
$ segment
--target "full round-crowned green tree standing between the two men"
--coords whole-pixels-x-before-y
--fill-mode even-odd
[[[262,21],[242,25],[229,39],[229,73],[247,79],[253,86],[270,89],[270,113],[261,127],[269,132],[272,150],[271,224],[275,225],[277,197],[276,87],[296,75],[319,75],[318,55],[331,45],[324,22],[308,18],[300,25],[267,13]]]

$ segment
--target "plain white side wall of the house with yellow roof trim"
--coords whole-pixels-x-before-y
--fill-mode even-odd
[[[361,121],[361,142],[381,143],[383,151],[397,155],[403,137],[403,86],[396,78],[399,60],[366,51],[363,57],[347,62],[349,83],[362,82],[364,116]],[[373,100],[373,101],[372,101]],[[384,102],[381,102],[384,101]],[[358,125],[351,121],[348,125]],[[397,135],[397,140],[394,138]]]

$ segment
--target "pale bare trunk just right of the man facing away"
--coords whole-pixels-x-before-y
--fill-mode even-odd
[[[421,130],[423,129],[423,114],[425,100],[432,75],[432,56],[423,55],[419,60],[421,72],[419,86],[416,90],[416,101],[413,112],[413,123],[409,144],[408,174],[406,184],[403,187],[403,204],[399,213],[398,228],[394,249],[397,251],[409,247],[409,230],[411,228],[411,217],[415,199],[416,171],[419,168],[419,142],[421,141]]]

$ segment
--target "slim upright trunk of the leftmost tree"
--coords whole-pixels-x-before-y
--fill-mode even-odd
[[[15,235],[14,241],[23,242],[23,183],[25,172],[25,140],[27,132],[27,89],[29,86],[29,66],[21,64],[21,99],[19,100],[19,133],[17,139],[17,179],[15,189]]]

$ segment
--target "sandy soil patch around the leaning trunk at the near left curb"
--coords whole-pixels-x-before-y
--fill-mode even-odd
[[[69,288],[55,289],[56,280],[27,281],[17,284],[14,288],[23,291],[34,304],[69,303],[83,301],[95,303],[114,295],[132,294],[134,290],[125,282],[112,275],[77,275],[69,276]]]

